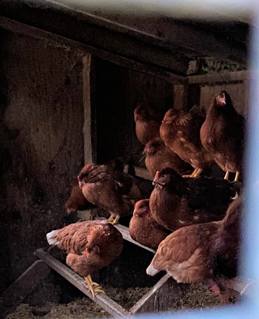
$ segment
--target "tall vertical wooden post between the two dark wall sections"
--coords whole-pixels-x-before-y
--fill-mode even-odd
[[[85,164],[97,162],[96,150],[96,101],[95,101],[95,58],[83,57],[83,105],[84,105],[84,153]]]

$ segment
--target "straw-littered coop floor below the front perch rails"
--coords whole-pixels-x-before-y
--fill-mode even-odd
[[[129,310],[150,288],[108,288],[107,295],[118,304]],[[234,303],[235,300],[229,303]],[[219,297],[215,296],[208,286],[203,284],[190,285],[189,288],[177,299],[172,301],[168,311],[188,311],[192,308],[206,308],[226,305]],[[88,297],[78,298],[67,304],[48,303],[45,306],[30,307],[28,304],[20,304],[15,311],[5,319],[80,319],[80,318],[108,318],[109,313]]]

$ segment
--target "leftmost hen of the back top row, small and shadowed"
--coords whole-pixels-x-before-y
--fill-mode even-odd
[[[159,128],[163,117],[145,103],[141,103],[134,110],[136,134],[140,143],[146,145],[155,137],[159,137]]]

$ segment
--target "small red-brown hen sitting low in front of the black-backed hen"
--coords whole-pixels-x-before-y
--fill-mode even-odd
[[[149,199],[135,204],[133,217],[129,223],[129,235],[141,245],[157,250],[160,242],[171,232],[159,225],[153,218],[149,208]]]

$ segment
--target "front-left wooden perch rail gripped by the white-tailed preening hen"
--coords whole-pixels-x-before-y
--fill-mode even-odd
[[[37,249],[36,255],[41,258],[49,267],[58,272],[62,277],[67,279],[72,285],[76,286],[82,291],[87,297],[94,300],[98,305],[105,309],[108,313],[113,315],[115,318],[126,318],[130,316],[130,313],[118,305],[114,300],[110,299],[107,295],[96,294],[93,298],[92,293],[89,292],[87,284],[85,284],[84,278],[79,276],[77,273],[72,271],[63,263],[59,262],[56,258],[49,255],[43,249]]]

